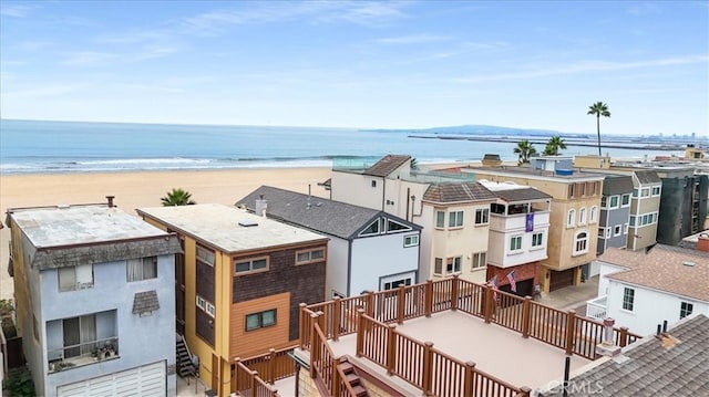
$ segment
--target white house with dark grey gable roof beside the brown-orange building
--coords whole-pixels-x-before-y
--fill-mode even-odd
[[[236,202],[265,216],[330,239],[329,297],[415,284],[421,227],[367,207],[261,186]]]

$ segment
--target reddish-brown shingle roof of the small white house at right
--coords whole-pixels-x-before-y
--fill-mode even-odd
[[[647,253],[609,248],[599,260],[629,268],[608,274],[610,280],[709,302],[707,252],[662,244],[657,244]]]

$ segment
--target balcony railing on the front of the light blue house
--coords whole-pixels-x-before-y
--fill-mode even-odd
[[[47,351],[49,373],[119,358],[119,338],[106,337]]]

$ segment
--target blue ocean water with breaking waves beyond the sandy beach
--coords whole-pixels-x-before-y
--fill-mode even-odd
[[[420,164],[474,161],[486,153],[514,160],[515,144],[411,137],[420,132],[0,121],[0,174],[330,167],[407,154]],[[435,137],[432,133],[431,137]],[[537,145],[538,146],[538,145]],[[537,150],[541,150],[537,147]],[[564,154],[589,154],[573,147]],[[610,149],[613,156],[644,153]],[[668,155],[667,153],[662,153]]]

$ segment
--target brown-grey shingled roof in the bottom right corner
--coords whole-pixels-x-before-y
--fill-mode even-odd
[[[571,378],[569,396],[699,396],[709,390],[709,317],[695,314],[670,327],[669,337],[645,337],[620,359],[600,358]],[[627,358],[627,359],[626,359]],[[587,387],[580,387],[586,385]],[[569,390],[571,391],[571,390]],[[561,396],[557,387],[543,396]]]

